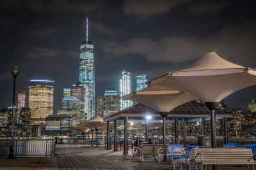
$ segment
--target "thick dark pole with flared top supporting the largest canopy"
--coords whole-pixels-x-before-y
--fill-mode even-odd
[[[205,102],[205,105],[211,110],[211,142],[212,148],[216,148],[216,115],[215,110],[219,106],[218,102]],[[212,170],[216,170],[217,166],[212,165]]]

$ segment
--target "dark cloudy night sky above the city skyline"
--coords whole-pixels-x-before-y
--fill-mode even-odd
[[[12,66],[20,66],[17,90],[31,79],[54,80],[54,112],[63,88],[78,81],[79,45],[95,45],[96,95],[119,90],[122,71],[150,79],[177,71],[215,51],[256,69],[253,1],[0,1],[0,108],[12,105]],[[256,86],[225,98],[246,110]]]

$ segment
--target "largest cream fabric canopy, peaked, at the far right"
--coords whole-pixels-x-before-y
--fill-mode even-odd
[[[169,72],[152,85],[179,89],[204,102],[220,102],[226,96],[256,84],[256,70],[222,59],[215,52],[206,52],[186,69]]]

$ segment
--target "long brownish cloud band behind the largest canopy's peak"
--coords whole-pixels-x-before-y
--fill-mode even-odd
[[[214,50],[243,64],[256,65],[255,43],[256,25],[244,22],[241,25],[228,24],[221,32],[204,38],[198,36],[164,36],[162,38],[132,38],[127,44],[115,42],[102,43],[103,50],[112,58],[125,54],[140,53],[147,57],[148,62],[186,62],[200,57],[204,52]],[[114,57],[114,58],[113,58]],[[243,58],[243,59],[242,59]]]

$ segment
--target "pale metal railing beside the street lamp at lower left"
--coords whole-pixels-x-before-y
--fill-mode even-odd
[[[10,140],[0,140],[0,155],[9,155]],[[21,140],[15,139],[13,154],[17,157],[53,157],[54,140]]]

